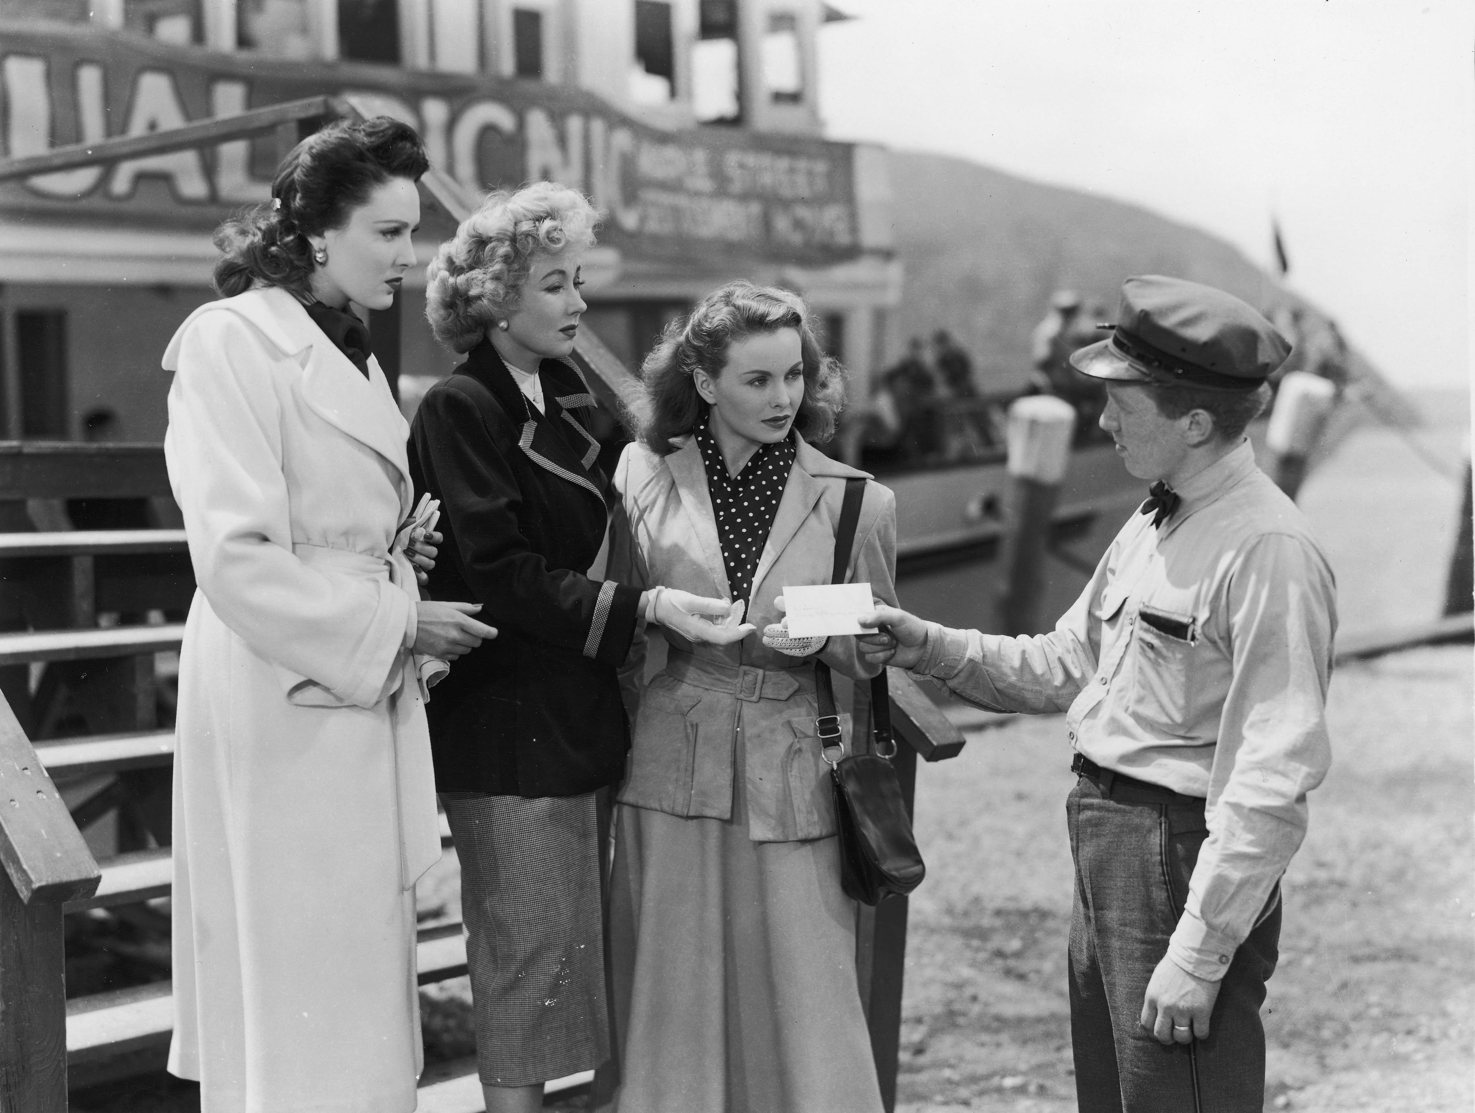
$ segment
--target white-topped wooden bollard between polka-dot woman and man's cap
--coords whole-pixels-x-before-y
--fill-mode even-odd
[[[1053,395],[1019,398],[1009,407],[1009,537],[999,599],[1003,634],[1034,634],[1040,628],[1050,516],[1071,460],[1074,428],[1075,407]]]

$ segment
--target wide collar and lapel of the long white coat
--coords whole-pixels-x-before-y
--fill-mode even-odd
[[[285,354],[307,352],[302,367],[302,400],[339,432],[373,448],[400,473],[401,503],[410,500],[410,464],[406,442],[410,429],[389,392],[379,361],[369,357],[369,377],[333,345],[307,315],[307,310],[282,289],[248,290],[214,302],[245,317]]]

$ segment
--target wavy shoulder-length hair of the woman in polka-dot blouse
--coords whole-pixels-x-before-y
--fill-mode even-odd
[[[696,432],[705,420],[709,407],[696,392],[692,371],[701,369],[715,379],[735,341],[779,329],[799,333],[804,401],[794,428],[805,441],[830,439],[845,404],[845,370],[820,348],[804,299],[771,286],[732,282],[702,298],[684,321],[668,324],[646,357],[640,369],[642,411],[631,414],[646,447],[656,456],[668,456],[677,448],[671,444],[674,438]]]

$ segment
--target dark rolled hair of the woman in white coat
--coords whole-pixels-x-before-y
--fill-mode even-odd
[[[414,128],[389,116],[313,133],[282,159],[271,200],[215,228],[215,290],[233,298],[261,285],[305,293],[313,274],[307,237],[344,227],[376,186],[419,181],[429,167]]]

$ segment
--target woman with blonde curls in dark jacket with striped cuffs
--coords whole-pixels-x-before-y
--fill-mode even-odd
[[[609,481],[594,400],[566,358],[594,223],[553,183],[494,193],[429,268],[435,336],[466,354],[426,392],[410,439],[416,485],[441,500],[429,587],[482,604],[500,629],[429,705],[491,1113],[541,1109],[546,1081],[609,1054],[594,795],[630,747],[617,669],[637,627],[715,641],[752,629],[698,618],[726,618],[720,599],[587,575]]]

